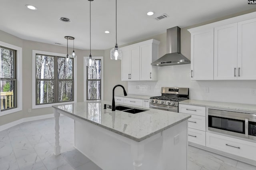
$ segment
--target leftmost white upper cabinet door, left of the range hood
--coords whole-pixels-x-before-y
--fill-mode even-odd
[[[131,53],[129,48],[122,48],[122,81],[129,81],[131,74]]]

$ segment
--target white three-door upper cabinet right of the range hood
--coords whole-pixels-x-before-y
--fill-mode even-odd
[[[256,80],[256,12],[191,28],[192,80]]]

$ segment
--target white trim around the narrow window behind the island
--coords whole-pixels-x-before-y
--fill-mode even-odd
[[[86,97],[86,89],[87,89],[87,83],[86,83],[86,58],[84,57],[84,101],[87,101],[87,97]],[[94,59],[101,59],[101,100],[104,100],[104,60],[103,57],[94,57]]]

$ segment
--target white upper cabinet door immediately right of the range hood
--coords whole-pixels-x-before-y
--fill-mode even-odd
[[[191,34],[191,79],[213,80],[214,29]]]

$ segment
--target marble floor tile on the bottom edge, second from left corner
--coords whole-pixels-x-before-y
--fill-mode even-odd
[[[17,158],[17,162],[20,170],[36,170],[39,168],[45,168],[43,162],[36,153]]]

